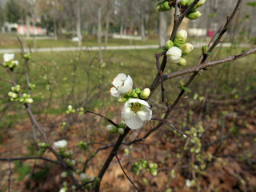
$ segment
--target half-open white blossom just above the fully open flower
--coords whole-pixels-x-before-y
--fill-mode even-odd
[[[120,96],[120,94],[128,94],[130,90],[133,88],[133,80],[130,78],[130,75],[126,76],[126,74],[118,74],[112,81],[112,86],[110,88],[110,94],[116,98]]]

